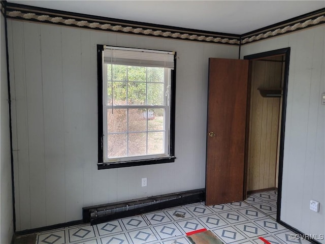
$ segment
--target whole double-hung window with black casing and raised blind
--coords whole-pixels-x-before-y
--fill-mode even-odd
[[[99,169],[174,162],[175,53],[98,45]]]

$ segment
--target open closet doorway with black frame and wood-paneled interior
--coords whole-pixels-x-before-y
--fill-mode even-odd
[[[276,188],[277,221],[280,221],[290,48],[247,55],[244,59],[250,60],[250,80],[247,92],[243,196],[246,198],[247,192],[254,190]],[[267,159],[268,163],[258,163],[257,166],[258,158]],[[264,178],[255,177],[256,166]]]

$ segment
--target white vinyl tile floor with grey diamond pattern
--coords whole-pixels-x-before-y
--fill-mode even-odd
[[[277,191],[249,195],[241,202],[205,206],[204,202],[162,209],[98,225],[70,226],[39,232],[36,244],[150,243],[190,244],[186,233],[206,228],[225,244],[310,243],[290,239],[293,231],[276,218]]]

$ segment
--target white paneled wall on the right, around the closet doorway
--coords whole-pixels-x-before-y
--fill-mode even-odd
[[[324,25],[244,45],[241,55],[290,47],[281,220],[307,234],[325,229]],[[309,201],[320,202],[319,212]],[[324,240],[319,240],[325,243]]]

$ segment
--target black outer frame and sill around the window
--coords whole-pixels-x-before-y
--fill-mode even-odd
[[[103,78],[103,52],[104,45],[97,45],[97,75],[98,75],[98,169],[109,169],[109,168],[121,168],[121,167],[131,167],[139,165],[150,165],[150,164],[160,164],[160,163],[171,163],[175,162],[175,94],[176,94],[176,53],[174,54],[174,70],[171,70],[170,77],[170,105],[169,105],[169,148],[166,149],[169,152],[168,156],[157,157],[153,155],[150,159],[140,159],[140,160],[128,160],[119,162],[105,162],[104,160],[104,101],[103,89],[104,78]],[[135,48],[136,49],[136,48]],[[132,157],[130,157],[132,158]]]

